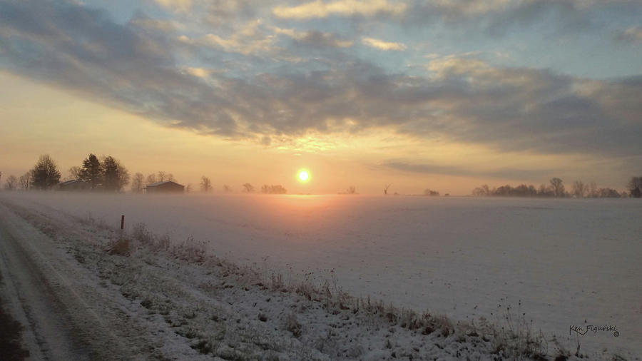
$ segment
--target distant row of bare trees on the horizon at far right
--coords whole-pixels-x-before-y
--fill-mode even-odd
[[[474,188],[472,195],[477,197],[540,197],[540,198],[640,198],[642,190],[642,177],[633,177],[628,182],[628,193],[618,192],[613,188],[598,188],[595,182],[584,183],[576,180],[571,184],[571,190],[566,190],[564,181],[560,178],[551,178],[549,184],[541,184],[539,188],[534,185],[521,184],[513,187],[502,185],[499,188],[489,188],[484,184]]]

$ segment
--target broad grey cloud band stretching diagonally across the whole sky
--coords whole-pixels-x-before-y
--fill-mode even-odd
[[[106,11],[63,1],[3,2],[0,68],[164,126],[229,138],[384,129],[499,151],[641,153],[640,76],[588,80],[497,67],[476,54],[432,56],[424,74],[392,74],[344,54],[333,34],[268,29],[248,21],[228,36],[190,37],[116,24]],[[325,57],[296,68],[268,63],[280,55],[278,34],[324,44]],[[245,68],[250,61],[268,66]],[[222,72],[228,63],[237,71]]]

